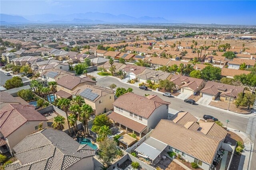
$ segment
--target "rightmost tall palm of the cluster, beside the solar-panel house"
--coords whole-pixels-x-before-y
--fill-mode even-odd
[[[88,129],[88,120],[90,119],[91,113],[93,113],[93,109],[90,105],[84,104],[81,107],[81,114],[80,117],[82,118],[82,123],[84,125],[84,132],[86,135],[89,134],[89,129]]]

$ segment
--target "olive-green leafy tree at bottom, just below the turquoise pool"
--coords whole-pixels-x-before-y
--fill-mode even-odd
[[[111,162],[114,161],[118,155],[116,142],[112,139],[106,138],[106,140],[99,142],[99,146],[101,151],[99,153],[99,158],[102,160],[104,165],[109,167]]]

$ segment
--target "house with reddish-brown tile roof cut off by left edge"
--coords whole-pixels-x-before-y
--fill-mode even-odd
[[[2,94],[2,92],[1,92]],[[0,111],[1,153],[13,151],[13,147],[27,135],[38,130],[42,123],[47,127],[47,119],[35,110],[33,105],[8,104]]]

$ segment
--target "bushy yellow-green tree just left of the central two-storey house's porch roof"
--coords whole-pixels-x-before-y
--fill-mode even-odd
[[[102,127],[104,125],[109,127],[111,125],[110,119],[104,114],[98,115],[95,117],[95,119],[92,123],[92,131],[98,133],[100,130],[100,127]]]

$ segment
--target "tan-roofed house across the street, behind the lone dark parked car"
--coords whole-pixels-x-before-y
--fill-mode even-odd
[[[160,80],[170,80],[172,76],[171,73],[146,68],[137,78],[140,82],[150,80],[151,82],[159,83]]]

